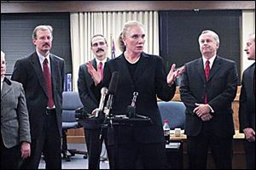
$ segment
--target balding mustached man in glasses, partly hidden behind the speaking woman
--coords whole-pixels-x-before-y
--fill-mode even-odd
[[[97,70],[101,78],[103,78],[103,68],[108,60],[107,52],[108,52],[108,43],[106,38],[101,34],[96,34],[91,37],[90,40],[90,49],[92,53],[95,55],[95,59],[89,61],[94,68]],[[79,96],[84,105],[84,111],[90,113],[92,115],[96,114],[96,108],[99,105],[99,100],[96,99],[96,96],[93,94],[90,89],[93,85],[93,80],[90,77],[90,74],[87,71],[87,64],[80,65],[79,67],[79,80],[78,80],[78,88],[79,88]],[[102,138],[100,139],[102,122],[98,121],[88,121],[84,123],[84,136],[86,141],[86,146],[89,155],[88,168],[89,169],[99,169],[100,168],[100,157],[102,152],[102,141],[105,140],[107,143],[106,130],[102,131]],[[108,145],[107,145],[108,149]],[[108,155],[110,153],[108,152]],[[111,167],[111,156],[109,158],[109,165]]]

